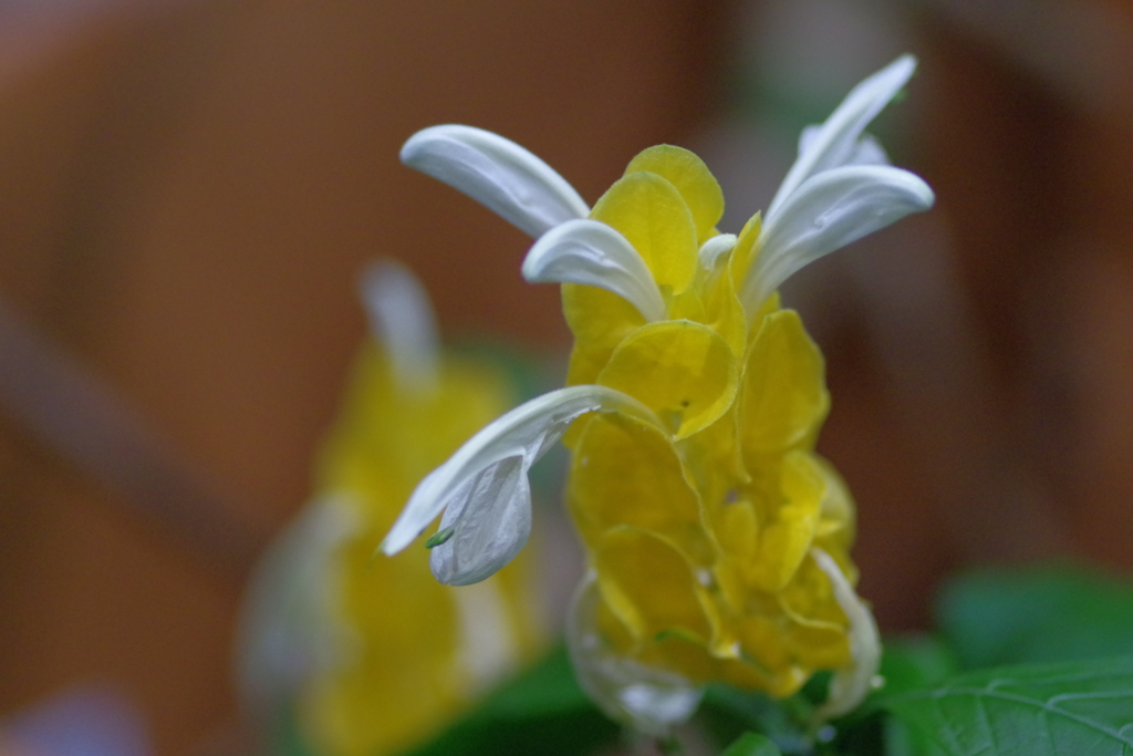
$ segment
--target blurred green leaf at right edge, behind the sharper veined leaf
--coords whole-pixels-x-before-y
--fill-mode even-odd
[[[937,627],[963,669],[1125,654],[1133,585],[1068,564],[954,579]]]

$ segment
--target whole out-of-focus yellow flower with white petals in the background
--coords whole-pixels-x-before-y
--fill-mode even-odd
[[[289,690],[305,737],[332,756],[419,742],[535,640],[527,564],[458,592],[428,576],[424,549],[373,559],[414,486],[500,414],[509,391],[487,365],[442,356],[408,271],[382,263],[365,284],[383,346],[363,346],[316,498],[261,570],[244,644],[245,687],[259,688],[246,697]]]

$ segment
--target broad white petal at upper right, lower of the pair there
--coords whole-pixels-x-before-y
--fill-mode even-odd
[[[759,255],[748,271],[742,301],[749,313],[803,265],[932,206],[932,189],[889,165],[823,171],[794,192],[764,226]]]

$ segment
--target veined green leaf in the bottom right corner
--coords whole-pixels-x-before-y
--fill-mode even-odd
[[[1133,656],[980,670],[884,702],[921,754],[1133,753]]]

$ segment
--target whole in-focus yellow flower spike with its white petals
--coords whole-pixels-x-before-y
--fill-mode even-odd
[[[403,161],[539,236],[523,274],[563,283],[574,348],[570,388],[504,415],[432,473],[383,550],[443,510],[452,545],[434,550],[436,577],[491,575],[526,540],[514,524],[529,518],[528,468],[565,433],[566,500],[589,555],[568,642],[607,713],[662,732],[704,682],[786,696],[817,670],[835,671],[820,716],[857,705],[879,649],[853,589],[853,503],[813,451],[829,408],[821,354],[775,290],[932,204],[862,135],[914,66],[898,59],[807,129],[766,219],[738,236],[717,231],[719,186],[680,147],[639,154],[590,210],[500,136],[415,135]]]

